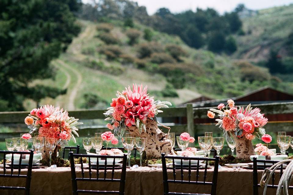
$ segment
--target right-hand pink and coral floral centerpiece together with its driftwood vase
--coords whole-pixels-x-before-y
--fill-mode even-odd
[[[220,119],[216,119],[216,126],[223,130],[224,136],[233,136],[236,139],[236,157],[249,158],[254,155],[251,140],[255,137],[261,139],[266,134],[263,126],[268,119],[260,113],[259,108],[252,109],[250,104],[245,109],[237,109],[233,100],[230,99],[227,103],[226,106],[219,104],[218,109],[211,108],[208,117],[214,118],[215,113],[219,114]]]

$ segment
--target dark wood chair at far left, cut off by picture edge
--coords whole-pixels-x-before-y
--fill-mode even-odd
[[[33,158],[34,158],[34,151],[31,150],[30,152],[22,152],[22,151],[0,151],[0,154],[3,154],[3,174],[0,174],[0,177],[10,177],[10,178],[26,178],[26,182],[25,182],[25,186],[24,187],[20,187],[20,186],[0,186],[0,190],[24,190],[24,194],[25,195],[29,195],[30,194],[30,186],[31,186],[31,169],[33,166]],[[7,167],[7,163],[6,163],[6,155],[7,154],[12,154],[11,157],[11,164],[9,164],[9,167]],[[14,158],[15,154],[20,154],[19,157],[19,163],[18,164],[14,164],[14,160],[16,158]],[[21,161],[22,161],[22,156],[23,155],[30,155],[29,161],[28,161],[28,166],[25,167],[27,168],[27,173],[26,175],[22,175],[20,174],[21,172]],[[10,172],[7,173],[7,170],[9,170]],[[13,174],[13,171],[16,172],[17,170],[17,174]],[[1,194],[1,193],[0,193]]]

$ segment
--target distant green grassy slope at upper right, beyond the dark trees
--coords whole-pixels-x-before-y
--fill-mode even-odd
[[[244,36],[237,36],[237,59],[258,61],[266,59],[270,48],[287,55],[284,42],[293,29],[293,4],[258,11],[256,16],[242,19]]]

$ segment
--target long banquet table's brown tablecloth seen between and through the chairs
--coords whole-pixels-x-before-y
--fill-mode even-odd
[[[25,170],[23,170],[25,172]],[[3,169],[0,169],[3,173]],[[92,176],[96,176],[96,170],[92,170]],[[259,171],[262,172],[262,171]],[[213,168],[208,169],[207,180],[212,181]],[[184,170],[185,179],[188,171]],[[103,174],[101,174],[103,175]],[[200,170],[202,179],[204,170]],[[88,177],[88,170],[85,169],[85,177]],[[111,176],[110,171],[107,177]],[[120,178],[121,170],[115,170],[114,178]],[[81,169],[77,169],[77,177],[81,177]],[[176,172],[176,177],[180,178],[180,170]],[[191,180],[195,179],[196,171],[192,171]],[[261,173],[259,173],[259,179]],[[172,170],[168,170],[168,178],[173,178]],[[276,179],[280,178],[280,172],[276,171]],[[25,181],[16,178],[0,178],[1,186],[24,186]],[[78,188],[84,190],[118,190],[118,183],[105,182],[78,182]],[[176,189],[177,192],[189,193],[210,193],[211,186],[208,185],[182,185],[169,184],[169,190]],[[149,167],[126,171],[125,195],[157,195],[163,194],[163,174],[162,170],[152,170]],[[218,173],[217,195],[248,195],[253,193],[252,170],[240,169],[233,170],[223,166]],[[0,194],[17,195],[23,194],[23,191],[0,190]],[[33,195],[69,195],[72,194],[71,171],[70,168],[39,168],[32,170],[31,193]],[[262,188],[259,188],[259,194],[262,194]],[[275,189],[267,190],[267,195],[276,194]]]

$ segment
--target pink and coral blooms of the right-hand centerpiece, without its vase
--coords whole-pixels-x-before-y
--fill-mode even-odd
[[[219,104],[218,109],[211,108],[208,111],[208,117],[214,118],[215,113],[219,114],[220,119],[216,119],[218,122],[216,125],[223,129],[224,134],[230,131],[237,137],[253,140],[255,137],[261,139],[262,135],[266,134],[263,126],[266,125],[268,119],[260,111],[259,108],[252,109],[250,104],[245,109],[244,107],[237,109],[235,102],[229,99],[226,106]]]

